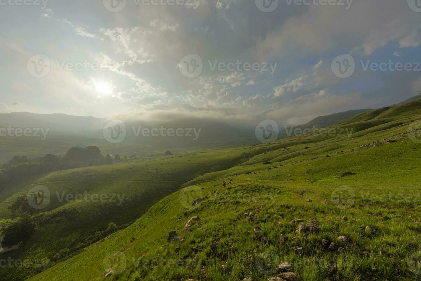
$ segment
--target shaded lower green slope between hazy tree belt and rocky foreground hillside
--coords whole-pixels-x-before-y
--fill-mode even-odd
[[[206,172],[228,169],[247,161],[242,151],[242,148],[203,151],[57,171],[31,184],[22,183],[0,190],[0,219],[10,218],[7,206],[19,195],[26,195],[32,187],[44,185],[51,195],[49,211],[37,218],[37,233],[18,251],[0,254],[0,259],[11,256],[20,260],[51,260],[61,249],[68,248],[70,252],[79,249],[78,244],[85,243],[95,231],[104,230],[110,222],[122,226],[138,219],[154,203],[178,190],[185,182]],[[63,197],[85,193],[90,194],[88,201],[83,198],[80,202],[73,198],[67,201]],[[97,198],[93,202],[90,197],[93,194],[107,198],[104,201]],[[80,211],[75,219],[67,217],[72,208]],[[2,275],[6,279],[2,280],[23,280],[40,270],[32,267],[7,269]]]

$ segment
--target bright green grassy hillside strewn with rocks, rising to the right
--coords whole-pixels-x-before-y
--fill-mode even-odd
[[[282,261],[301,280],[415,280],[420,109],[408,102],[329,127],[351,135],[317,130],[245,148],[252,157],[240,165],[195,177],[31,280],[267,280]],[[298,231],[299,219],[317,220],[312,233]]]

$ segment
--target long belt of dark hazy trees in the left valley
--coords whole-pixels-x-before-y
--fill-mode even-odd
[[[0,187],[50,171],[108,165],[113,161],[110,155],[104,157],[96,146],[72,147],[63,156],[47,154],[33,159],[15,156],[11,161],[0,165]]]

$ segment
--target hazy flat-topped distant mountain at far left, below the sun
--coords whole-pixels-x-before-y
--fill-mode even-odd
[[[73,116],[66,114],[37,114],[11,112],[0,114],[0,126],[7,128],[49,128],[50,132],[92,134],[104,127],[105,118]]]

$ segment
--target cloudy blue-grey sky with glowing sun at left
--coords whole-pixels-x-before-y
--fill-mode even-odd
[[[0,0],[0,24],[1,113],[296,125],[421,93],[420,0]]]

